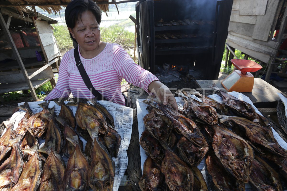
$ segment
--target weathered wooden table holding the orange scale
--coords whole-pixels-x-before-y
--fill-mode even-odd
[[[221,81],[222,80],[196,80],[196,83],[199,88],[202,88],[203,90],[212,90],[208,86],[212,86],[214,83],[217,87],[225,90],[221,85]],[[261,78],[254,78],[252,92],[243,92],[242,94],[249,97],[257,108],[275,108],[277,106],[277,101],[279,100],[277,92],[281,91]]]

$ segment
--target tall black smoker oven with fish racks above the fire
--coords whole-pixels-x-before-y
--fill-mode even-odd
[[[147,0],[136,5],[138,62],[155,73],[187,65],[217,79],[233,0]]]

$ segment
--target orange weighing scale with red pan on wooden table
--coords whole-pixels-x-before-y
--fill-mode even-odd
[[[231,62],[238,70],[234,70],[224,78],[221,82],[222,86],[228,92],[251,92],[254,85],[254,76],[250,72],[256,72],[262,66],[252,60],[232,59]]]

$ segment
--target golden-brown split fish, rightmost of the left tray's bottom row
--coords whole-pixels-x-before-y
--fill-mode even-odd
[[[94,139],[94,147],[91,156],[92,162],[88,171],[89,185],[93,190],[112,191],[115,162],[108,154],[107,149],[98,141],[98,133],[90,133],[90,135]]]

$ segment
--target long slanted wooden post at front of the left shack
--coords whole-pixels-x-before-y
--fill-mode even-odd
[[[10,45],[11,48],[12,48],[13,54],[15,55],[16,60],[17,60],[19,66],[20,66],[20,68],[21,68],[21,70],[22,70],[22,73],[23,73],[23,75],[24,75],[24,78],[25,78],[25,80],[26,80],[26,82],[27,82],[27,84],[28,84],[28,86],[29,86],[29,89],[30,89],[30,91],[31,91],[32,98],[33,98],[34,100],[37,100],[38,98],[37,98],[36,92],[35,92],[35,90],[34,90],[34,87],[33,87],[33,85],[32,85],[31,80],[28,79],[28,73],[27,73],[27,71],[26,71],[26,68],[25,68],[23,62],[22,62],[22,59],[21,59],[21,57],[20,57],[20,54],[19,54],[19,52],[18,52],[18,50],[17,50],[17,48],[16,48],[16,45],[15,45],[15,43],[14,43],[14,41],[13,41],[13,38],[12,38],[12,36],[11,36],[11,34],[10,34],[8,28],[7,28],[7,25],[6,25],[6,23],[5,23],[5,20],[4,20],[4,18],[3,18],[3,15],[2,15],[2,13],[1,13],[1,9],[0,9],[0,24],[1,24],[2,28],[3,28],[3,31],[4,31],[4,33],[5,33],[5,35],[6,35],[7,39],[8,39],[8,41],[9,41],[9,45]]]

